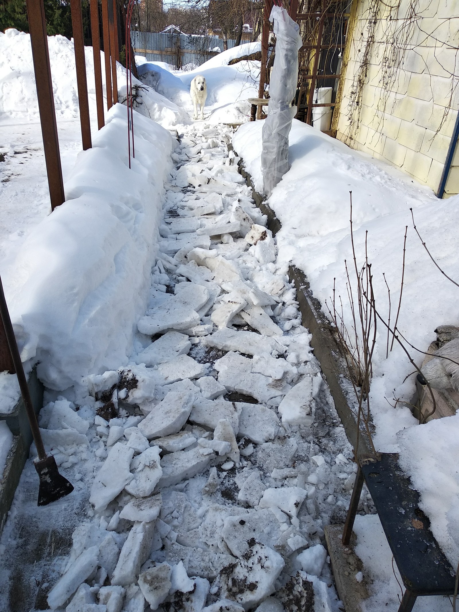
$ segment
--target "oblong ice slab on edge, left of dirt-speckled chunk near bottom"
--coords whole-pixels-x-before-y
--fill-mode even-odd
[[[154,523],[134,524],[121,549],[111,584],[129,586],[137,581],[140,567],[150,553],[154,527]]]

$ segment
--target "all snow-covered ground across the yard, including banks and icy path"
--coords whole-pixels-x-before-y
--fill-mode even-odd
[[[47,387],[45,445],[75,485],[37,510],[27,462],[0,541],[4,610],[64,610],[72,598],[67,612],[143,612],[146,602],[162,612],[340,609],[323,528],[343,522],[356,466],[300,325],[288,264],[307,273],[319,299],[329,299],[334,277],[345,295],[353,190],[357,255],[368,229],[375,279],[386,272],[397,293],[410,206],[454,276],[457,198],[442,203],[294,121],[292,167],[269,200],[283,225],[273,239],[237,172],[242,154],[261,190],[263,122],[231,127],[247,122],[247,98],[258,95],[259,62],[228,65],[247,54],[242,47],[194,72],[139,65],[129,170],[124,106],[81,152],[73,46],[50,37],[67,201],[48,215],[29,37],[0,33],[0,274],[23,359],[38,362]],[[94,122],[90,48],[86,64]],[[192,124],[198,73],[209,97],[205,121]],[[118,74],[122,99],[121,66]],[[451,286],[411,235],[407,245],[398,327],[426,348],[438,324],[456,323]],[[422,426],[421,439],[408,409],[387,406],[392,389],[409,398],[412,381],[402,384],[409,369],[397,348],[385,359],[384,339],[371,387],[375,442],[401,450],[453,562],[459,487],[442,461],[454,456],[456,417]],[[3,378],[7,410],[17,387]],[[1,439],[4,450],[6,431]],[[372,512],[365,491],[359,509]],[[368,612],[386,610],[398,589],[387,543],[373,517],[359,518],[356,533]],[[443,612],[450,603],[416,606]]]

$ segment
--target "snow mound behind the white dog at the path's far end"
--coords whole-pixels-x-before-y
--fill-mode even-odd
[[[250,104],[247,100],[258,97],[260,62],[227,64],[231,59],[258,50],[259,43],[240,45],[223,51],[189,72],[171,71],[162,62],[145,62],[138,66],[138,74],[143,83],[188,112],[193,110],[190,83],[196,75],[203,75],[207,83],[206,114],[209,111],[211,113],[208,121],[212,124],[242,124],[250,117]]]

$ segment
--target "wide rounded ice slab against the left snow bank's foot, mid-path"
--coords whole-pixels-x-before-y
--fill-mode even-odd
[[[141,334],[152,336],[160,334],[166,329],[188,329],[198,325],[200,316],[193,310],[184,306],[179,300],[161,304],[147,311],[137,323],[137,329]]]

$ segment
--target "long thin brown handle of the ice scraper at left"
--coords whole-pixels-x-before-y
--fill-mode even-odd
[[[13,326],[11,324],[10,313],[8,312],[8,307],[6,304],[5,294],[3,292],[2,280],[0,278],[0,314],[3,321],[3,327],[5,329],[6,339],[8,341],[8,346],[10,348],[11,358],[13,360],[13,365],[16,370],[16,375],[18,377],[19,387],[21,389],[21,394],[24,400],[24,405],[26,406],[27,416],[29,419],[30,428],[32,430],[32,436],[34,436],[35,446],[37,447],[37,453],[39,459],[45,459],[47,457],[47,453],[45,451],[45,447],[43,446],[42,436],[40,434],[40,429],[37,423],[37,416],[35,415],[34,406],[32,404],[32,399],[30,397],[29,387],[27,384],[26,375],[24,373],[24,368],[21,361],[21,356],[19,354],[19,349],[16,341],[16,337],[14,335]]]

